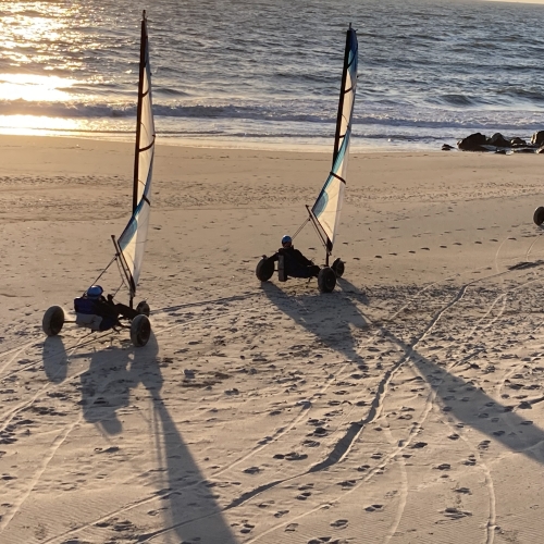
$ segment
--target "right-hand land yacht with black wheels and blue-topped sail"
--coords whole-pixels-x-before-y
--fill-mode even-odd
[[[350,24],[346,33],[344,67],[334,138],[333,165],[316,203],[312,208],[309,206],[306,207],[308,210],[308,219],[293,235],[293,238],[295,238],[308,222],[311,222],[316,227],[316,232],[325,248],[325,263],[316,274],[318,287],[321,293],[331,293],[336,285],[336,279],[341,277],[345,270],[345,264],[341,259],[336,259],[331,265],[329,261],[332,256],[334,238],[339,223],[339,212],[342,210],[344,188],[346,185],[349,140],[351,136],[351,121],[357,85],[357,34],[356,30],[351,28]],[[287,274],[286,270],[295,270],[295,274]],[[275,271],[277,271],[277,276],[281,282],[285,282],[289,276],[308,277],[307,275],[297,275],[296,267],[294,267],[293,263],[285,262],[282,250],[279,251],[277,269],[275,268],[274,261],[263,256],[257,264],[256,275],[261,282],[268,282]]]

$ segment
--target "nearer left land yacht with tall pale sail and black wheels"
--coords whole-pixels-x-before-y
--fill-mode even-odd
[[[89,295],[96,285],[74,300],[74,309],[77,318],[66,320],[66,314],[60,306],[51,306],[42,319],[42,329],[48,336],[59,334],[64,323],[75,323],[77,326],[90,331],[109,331],[120,329],[129,330],[131,341],[135,346],[145,346],[151,334],[151,323],[149,321],[149,305],[143,300],[136,308],[133,307],[136,295],[136,286],[144,259],[144,249],[147,240],[149,227],[149,215],[151,210],[150,188],[152,178],[152,166],[154,156],[154,121],[151,101],[151,70],[149,66],[149,39],[147,34],[147,18],[144,11],[141,20],[140,40],[140,64],[138,83],[138,109],[136,123],[136,149],[134,161],[134,184],[133,184],[133,209],[131,219],[119,237],[112,236],[115,255],[108,267],[101,272],[98,279],[113,264],[118,263],[121,272],[122,283],[128,288],[129,302],[127,306],[115,304],[113,296],[109,295],[108,300],[101,297],[101,302],[109,304],[114,310],[119,310],[118,317],[112,317],[109,322],[104,322],[102,316],[92,313],[92,304],[96,302],[95,295]],[[98,281],[95,281],[95,283]],[[118,292],[120,290],[118,288]],[[100,287],[101,292],[101,287]],[[101,319],[95,319],[101,318]]]

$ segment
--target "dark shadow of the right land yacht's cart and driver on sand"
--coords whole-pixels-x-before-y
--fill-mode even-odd
[[[316,294],[293,297],[268,282],[262,284],[262,290],[281,311],[314,334],[327,347],[354,362],[363,362],[357,353],[354,330],[368,329],[369,324],[354,304],[351,295],[346,296],[338,290],[320,295],[316,290]],[[357,297],[363,295],[358,292]]]

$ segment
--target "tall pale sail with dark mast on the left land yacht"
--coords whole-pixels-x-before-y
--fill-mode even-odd
[[[154,122],[151,101],[151,69],[146,12],[141,21],[141,45],[134,161],[133,214],[118,244],[134,295],[144,259],[151,211],[150,189],[154,156]]]

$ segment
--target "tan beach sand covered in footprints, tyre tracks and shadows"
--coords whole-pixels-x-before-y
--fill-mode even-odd
[[[134,348],[41,331],[113,256],[133,146],[0,144],[0,543],[541,542],[542,157],[353,153],[320,295],[255,267],[329,153],[159,146]]]

